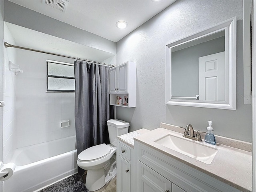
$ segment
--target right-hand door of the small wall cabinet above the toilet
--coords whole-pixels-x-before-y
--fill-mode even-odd
[[[118,93],[128,93],[128,62],[118,66]]]

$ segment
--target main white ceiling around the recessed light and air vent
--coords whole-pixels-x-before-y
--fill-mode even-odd
[[[46,5],[45,0],[9,1],[117,42],[176,0],[68,0],[64,12]],[[128,27],[116,28],[119,20]]]

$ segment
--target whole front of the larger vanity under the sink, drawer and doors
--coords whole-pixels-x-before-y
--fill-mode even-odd
[[[140,142],[134,141],[134,153],[138,192],[240,192]]]

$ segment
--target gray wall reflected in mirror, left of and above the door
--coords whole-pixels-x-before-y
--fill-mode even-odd
[[[209,49],[210,47],[210,49]],[[172,52],[172,96],[194,97],[199,93],[198,58],[225,51],[225,37]],[[200,97],[199,97],[200,98]]]

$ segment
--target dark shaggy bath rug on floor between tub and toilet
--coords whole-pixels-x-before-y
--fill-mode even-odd
[[[48,186],[39,192],[89,192],[85,187],[82,177],[78,174],[74,174],[68,178],[65,178],[59,182]]]

